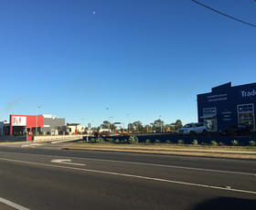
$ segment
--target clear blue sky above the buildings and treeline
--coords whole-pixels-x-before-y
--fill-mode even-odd
[[[256,24],[253,0],[200,0]],[[256,27],[190,0],[0,1],[0,121],[197,121],[197,94],[256,80]],[[109,108],[107,110],[106,108]]]

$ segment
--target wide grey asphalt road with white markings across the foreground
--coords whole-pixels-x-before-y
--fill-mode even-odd
[[[0,209],[256,209],[255,161],[58,148],[0,147]]]

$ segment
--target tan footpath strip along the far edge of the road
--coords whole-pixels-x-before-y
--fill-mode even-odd
[[[139,152],[153,154],[176,154],[188,156],[221,157],[221,158],[239,158],[256,160],[256,151],[244,151],[238,148],[219,148],[208,147],[189,148],[185,146],[130,146],[130,145],[102,145],[94,143],[70,143],[64,145],[65,150],[83,150],[83,151],[103,151],[103,152]]]

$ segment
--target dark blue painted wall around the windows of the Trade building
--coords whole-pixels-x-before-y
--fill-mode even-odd
[[[216,108],[218,131],[232,124],[239,124],[238,105],[254,107],[254,131],[256,116],[256,83],[232,87],[231,83],[213,88],[211,92],[197,95],[198,121],[204,121],[203,110]]]

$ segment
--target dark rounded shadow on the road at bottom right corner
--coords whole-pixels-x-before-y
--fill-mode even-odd
[[[256,209],[256,199],[243,199],[234,197],[217,197],[202,202],[192,208],[192,210],[234,210],[234,209]]]

